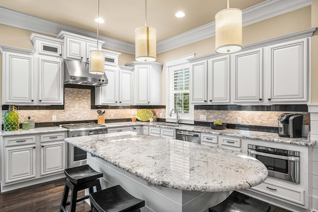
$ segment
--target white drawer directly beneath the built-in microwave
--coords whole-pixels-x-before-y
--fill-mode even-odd
[[[289,201],[292,203],[297,203],[304,206],[304,190],[296,189],[288,186],[278,185],[276,183],[265,181],[255,187],[252,187],[251,190],[257,191],[263,195],[274,197]]]

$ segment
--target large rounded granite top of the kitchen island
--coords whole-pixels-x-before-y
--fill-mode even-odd
[[[136,132],[66,138],[67,142],[149,183],[220,192],[262,183],[266,167],[242,153]]]

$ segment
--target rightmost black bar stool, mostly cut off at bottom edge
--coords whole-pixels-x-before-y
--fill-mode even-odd
[[[269,203],[234,191],[225,201],[209,208],[209,212],[269,212],[270,206]]]

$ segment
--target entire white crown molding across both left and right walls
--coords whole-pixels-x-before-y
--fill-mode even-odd
[[[308,5],[311,0],[266,0],[243,10],[243,26],[268,19],[286,12],[293,11]],[[41,19],[35,16],[16,12],[0,7],[0,24],[14,26],[30,31],[57,36],[61,31],[68,31],[82,36],[95,38],[96,34],[84,31],[65,24]],[[215,22],[210,22],[184,33],[157,42],[157,54],[175,49],[215,36]],[[103,48],[112,49],[129,54],[135,54],[135,44],[100,35],[99,40],[105,41]]]

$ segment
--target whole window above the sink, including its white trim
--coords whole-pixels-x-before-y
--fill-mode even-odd
[[[182,123],[194,123],[194,106],[190,104],[190,67],[188,59],[194,54],[165,61],[166,66],[166,121],[175,121],[176,112]],[[170,115],[170,112],[173,111]]]

